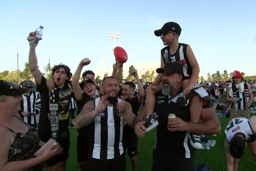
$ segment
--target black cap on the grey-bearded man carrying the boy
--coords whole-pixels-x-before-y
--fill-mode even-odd
[[[179,75],[183,75],[183,66],[179,64],[178,62],[168,62],[165,64],[164,68],[157,68],[157,73],[169,73],[174,74],[177,73]]]

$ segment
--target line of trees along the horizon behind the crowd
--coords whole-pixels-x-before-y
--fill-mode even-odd
[[[46,79],[53,78],[52,75],[52,67],[50,64],[47,64],[46,67],[44,67],[44,72],[42,73],[43,76],[45,76]],[[224,70],[223,73],[220,73],[220,71],[216,71],[216,73],[210,74],[207,73],[207,78],[205,79],[203,76],[198,76],[197,81],[211,81],[211,80],[216,80],[216,81],[227,81],[231,80],[232,75],[227,75],[228,72],[227,70]],[[253,81],[255,80],[256,76],[245,76],[244,72],[241,72],[241,74],[244,76],[244,79],[247,81]],[[18,78],[19,75],[19,78]],[[107,73],[104,74],[103,79],[108,76]],[[101,82],[102,80],[100,79],[101,76],[96,76],[95,81]],[[146,71],[143,75],[140,76],[143,82],[148,81],[148,82],[153,82],[156,77],[155,77],[155,71],[154,70],[148,70]],[[0,80],[6,80],[10,82],[21,82],[26,79],[33,80],[32,73],[29,69],[29,64],[28,62],[25,63],[25,68],[23,71],[21,70],[13,70],[11,72],[5,70],[0,73]],[[122,80],[135,80],[135,77],[133,75],[128,75],[126,78],[123,78]],[[80,78],[80,81],[82,81],[82,78]]]

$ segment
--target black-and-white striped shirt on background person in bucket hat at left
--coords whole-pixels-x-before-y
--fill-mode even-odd
[[[23,101],[20,102],[20,116],[24,122],[27,124],[35,124],[39,122],[39,117],[37,115],[40,113],[41,110],[41,99],[37,92],[30,91],[30,95],[23,94]],[[31,116],[23,116],[21,112],[36,112],[36,114]]]

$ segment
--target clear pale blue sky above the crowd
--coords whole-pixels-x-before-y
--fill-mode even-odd
[[[179,41],[191,46],[206,78],[226,69],[255,74],[256,1],[1,1],[0,2],[0,72],[17,69],[28,62],[29,32],[44,26],[43,40],[37,46],[40,70],[45,60],[51,65],[64,63],[75,73],[81,59],[96,71],[108,54],[107,68],[113,64],[110,30],[118,31],[116,46],[128,54],[129,65],[138,61],[160,62],[164,47],[154,30],[164,23],[179,23]]]

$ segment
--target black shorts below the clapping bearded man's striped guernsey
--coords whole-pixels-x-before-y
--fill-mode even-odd
[[[125,171],[125,153],[114,159],[94,159],[88,157],[87,171]]]

